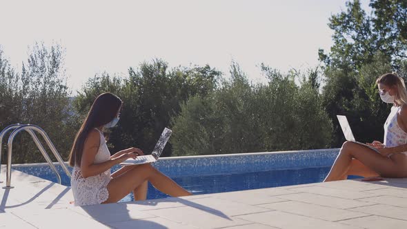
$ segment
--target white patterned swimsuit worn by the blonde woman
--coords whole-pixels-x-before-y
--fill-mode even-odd
[[[391,108],[390,115],[384,123],[384,146],[395,147],[407,143],[407,133],[404,132],[397,122],[397,116],[401,106]],[[407,152],[403,152],[407,155]]]

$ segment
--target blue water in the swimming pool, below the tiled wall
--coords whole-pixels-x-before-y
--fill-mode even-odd
[[[49,181],[57,182],[57,177],[44,166],[43,172],[35,174]],[[19,170],[19,168],[15,168]],[[257,188],[272,188],[279,186],[291,186],[303,183],[320,182],[326,177],[330,168],[304,168],[296,170],[270,170],[263,172],[241,172],[224,175],[206,175],[190,177],[171,177],[186,190],[194,195],[216,192],[232,192],[238,190],[250,190]],[[22,170],[22,172],[27,172]],[[32,174],[34,175],[34,174]],[[70,186],[70,179],[61,173],[62,185]],[[159,192],[151,184],[148,186],[148,199],[165,198],[168,195]],[[121,201],[132,201],[132,193]]]

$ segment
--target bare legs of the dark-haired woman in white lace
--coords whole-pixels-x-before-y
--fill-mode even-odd
[[[155,188],[172,197],[192,195],[166,175],[163,175],[150,164],[136,166],[108,183],[109,197],[103,203],[115,203],[128,195],[129,192],[150,181]]]

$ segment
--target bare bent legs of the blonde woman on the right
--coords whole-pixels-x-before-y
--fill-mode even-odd
[[[403,167],[392,159],[379,155],[370,148],[346,141],[324,182],[346,179],[353,158],[381,176],[395,177],[400,176],[401,173],[406,173],[406,166]]]

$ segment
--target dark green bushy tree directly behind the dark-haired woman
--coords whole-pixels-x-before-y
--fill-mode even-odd
[[[77,110],[87,112],[97,95],[113,92],[123,100],[119,125],[112,128],[110,149],[121,150],[130,146],[151,152],[163,128],[170,127],[170,119],[178,115],[180,103],[197,94],[214,90],[220,72],[210,66],[178,67],[157,59],[129,68],[126,79],[102,74],[90,79],[76,99]],[[171,144],[163,156],[171,155]]]

